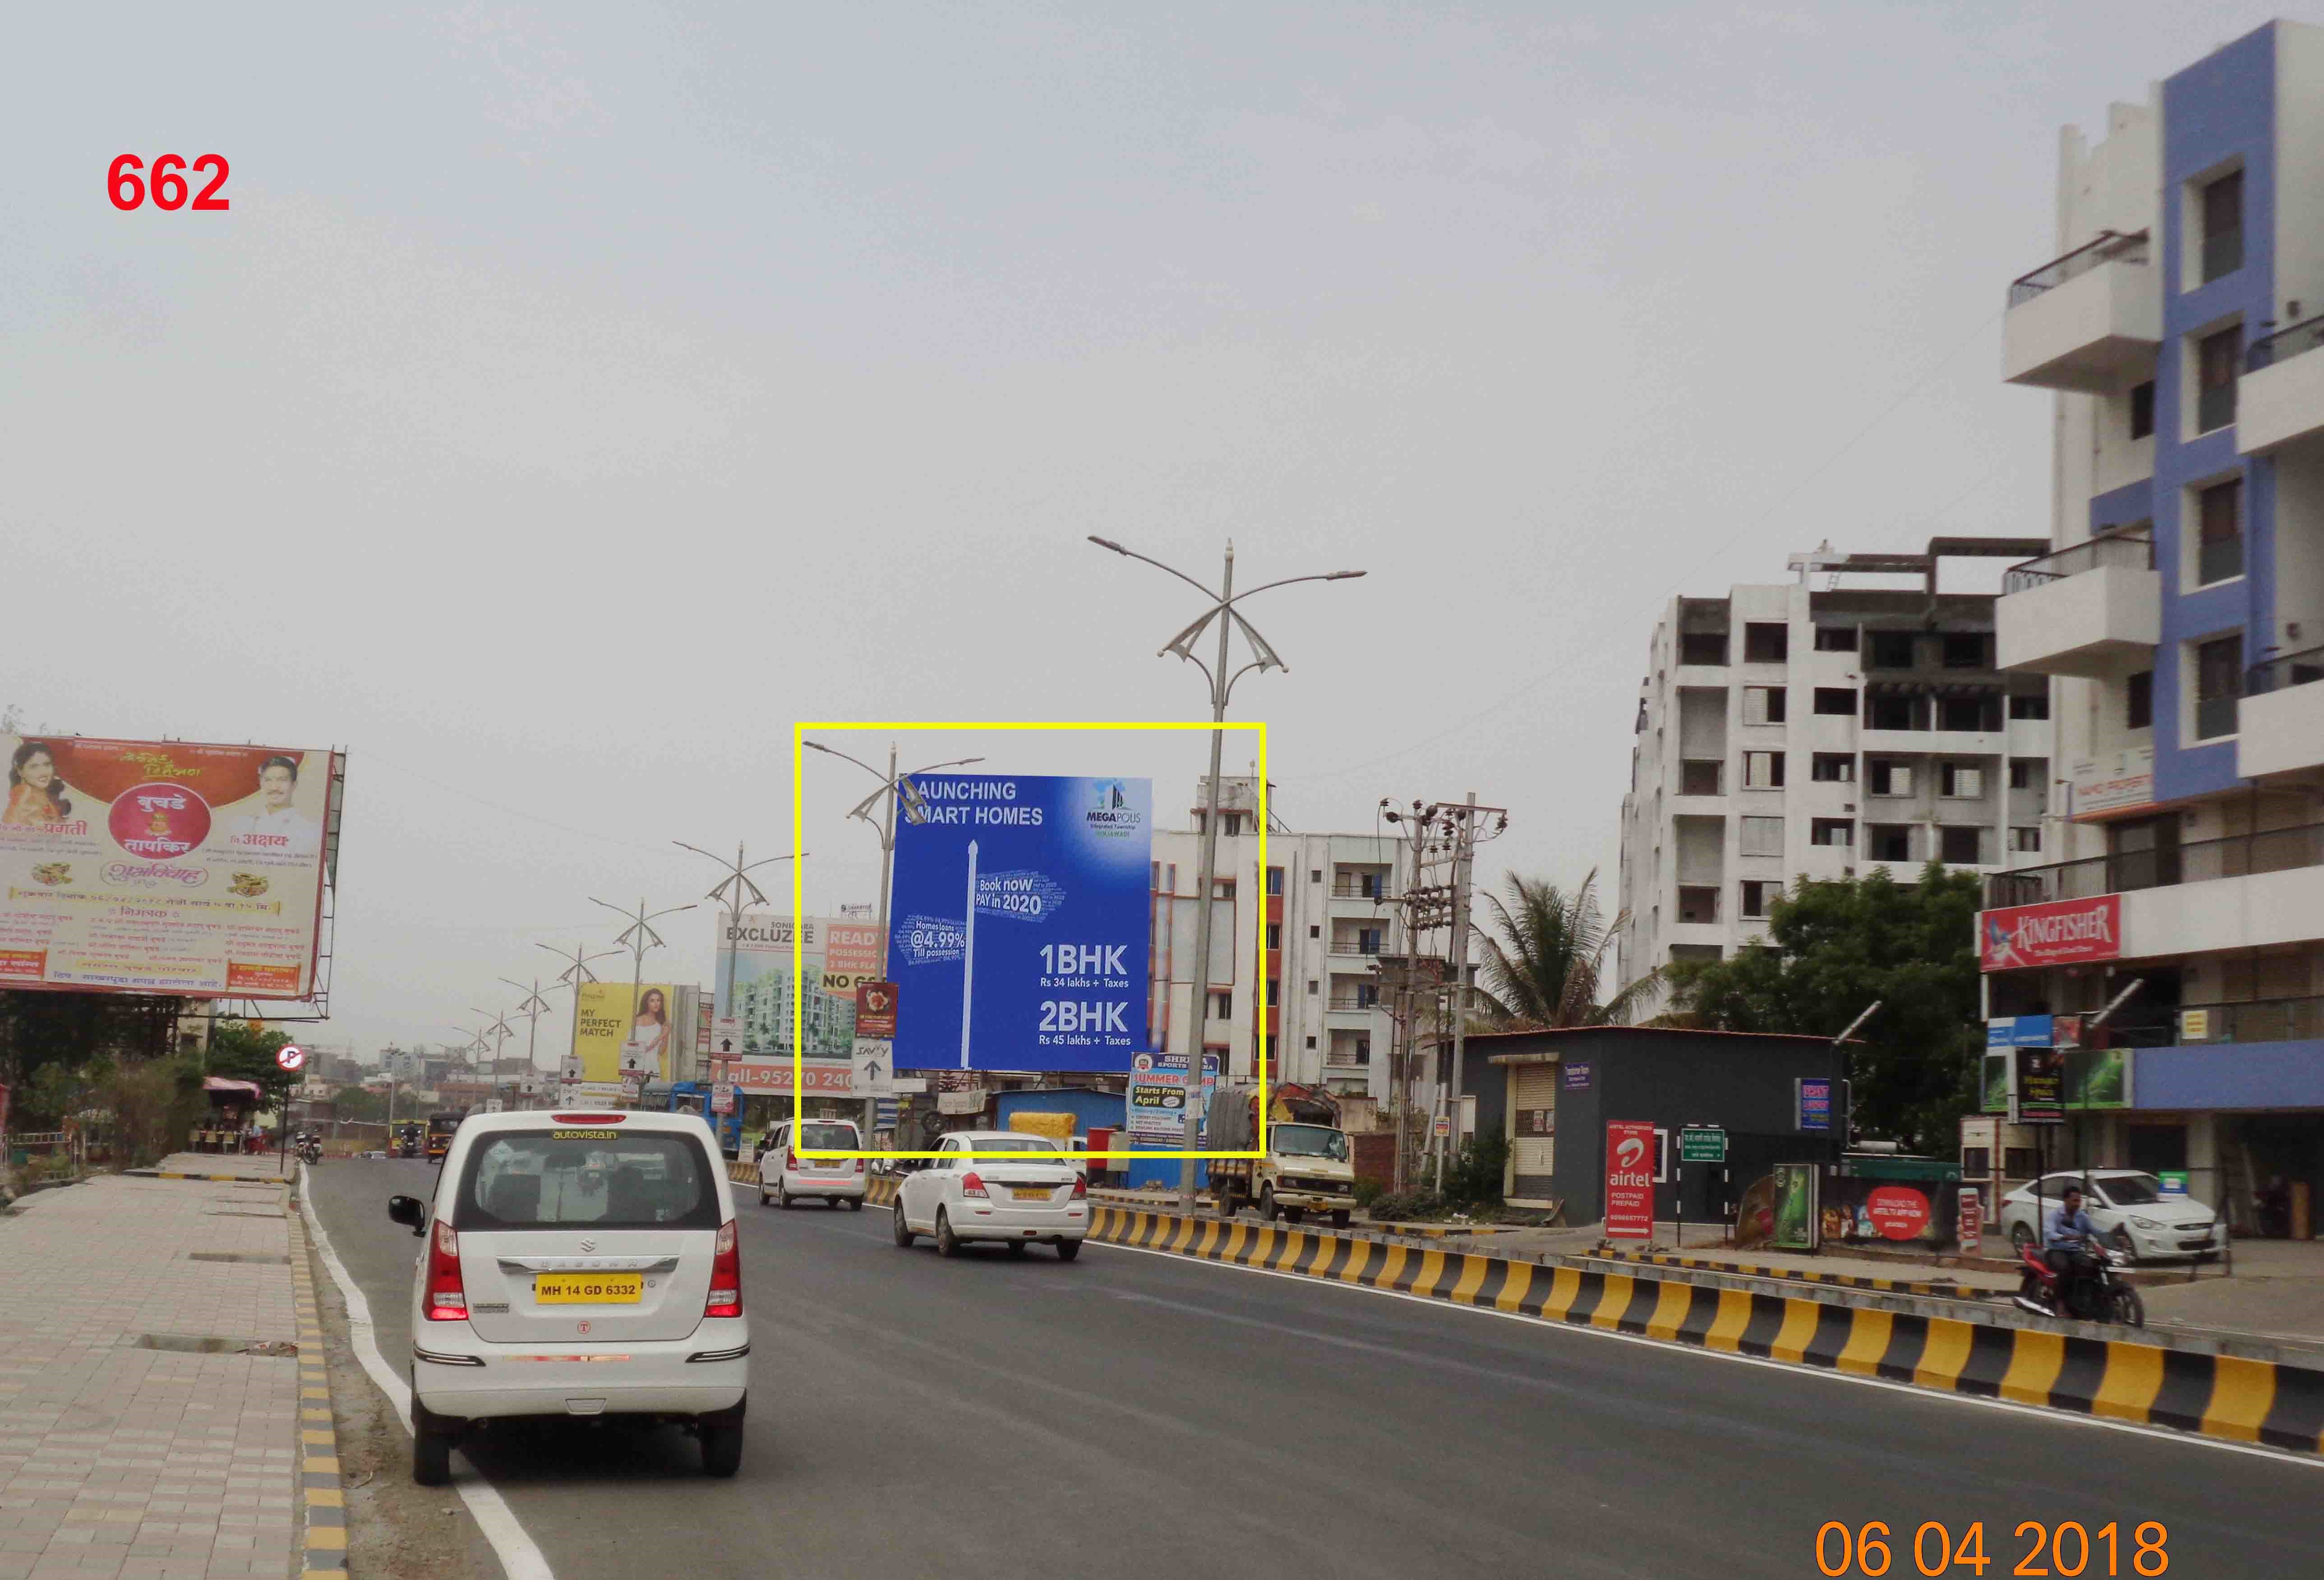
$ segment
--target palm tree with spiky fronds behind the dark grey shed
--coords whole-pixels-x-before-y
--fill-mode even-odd
[[[1483,999],[1494,1022],[1529,1027],[1601,1027],[1627,1022],[1662,992],[1662,971],[1648,971],[1599,999],[1606,950],[1629,913],[1599,918],[1597,869],[1571,895],[1555,883],[1508,874],[1508,904],[1487,892],[1494,927],[1480,934]],[[1494,936],[1499,934],[1499,936]]]

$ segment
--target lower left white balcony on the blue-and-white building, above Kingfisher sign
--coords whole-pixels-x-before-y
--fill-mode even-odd
[[[2161,641],[2161,623],[2154,541],[2126,532],[2013,565],[1994,602],[2001,665],[2033,674],[2096,678],[2143,667]]]

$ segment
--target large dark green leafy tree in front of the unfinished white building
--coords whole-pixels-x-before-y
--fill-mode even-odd
[[[1766,943],[1666,967],[1678,1025],[1838,1036],[1880,1001],[1850,1048],[1855,1127],[1950,1152],[1978,1104],[1975,874],[1929,862],[1917,883],[1887,867],[1801,878],[1769,906]]]

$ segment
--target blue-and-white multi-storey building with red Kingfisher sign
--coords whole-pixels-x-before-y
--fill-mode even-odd
[[[2280,1222],[2324,1187],[2324,30],[2068,128],[2052,246],[2003,321],[2003,376],[2054,390],[2052,553],[1999,651],[2052,676],[2071,802],[1987,885],[1992,1013],[2136,983],[2068,1155]]]

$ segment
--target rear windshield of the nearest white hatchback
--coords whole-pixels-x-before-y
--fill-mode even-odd
[[[467,1155],[453,1227],[716,1229],[718,1190],[693,1136],[511,1129]]]

